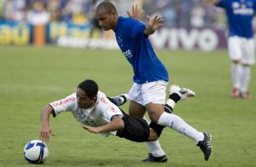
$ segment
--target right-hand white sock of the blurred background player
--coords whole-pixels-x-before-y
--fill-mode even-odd
[[[251,68],[248,65],[241,65],[241,92],[248,91],[248,86],[251,80]]]

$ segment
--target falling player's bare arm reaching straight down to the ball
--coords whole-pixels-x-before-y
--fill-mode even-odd
[[[54,135],[49,123],[50,115],[53,112],[54,112],[54,109],[50,105],[45,105],[44,108],[41,110],[41,114],[40,114],[41,127],[40,127],[39,138],[43,142],[49,142],[50,134]]]

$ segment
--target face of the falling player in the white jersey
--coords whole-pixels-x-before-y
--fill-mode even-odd
[[[82,89],[77,88],[76,99],[77,99],[77,104],[80,108],[87,109],[94,105],[96,98],[95,97],[90,98],[90,97],[86,96],[86,93]]]

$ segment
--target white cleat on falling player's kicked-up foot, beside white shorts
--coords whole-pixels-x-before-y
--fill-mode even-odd
[[[170,86],[170,90],[169,90],[170,94],[172,93],[177,93],[179,94],[179,96],[181,97],[181,101],[188,98],[188,97],[194,97],[195,93],[187,88],[180,88],[178,85],[174,85],[172,84]]]

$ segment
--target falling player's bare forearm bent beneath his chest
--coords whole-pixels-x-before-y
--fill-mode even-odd
[[[112,121],[110,123],[104,124],[98,127],[92,127],[89,125],[83,124],[82,127],[84,130],[87,130],[90,133],[110,133],[113,131],[118,131],[123,129],[124,123],[121,117],[118,115],[113,116]]]

